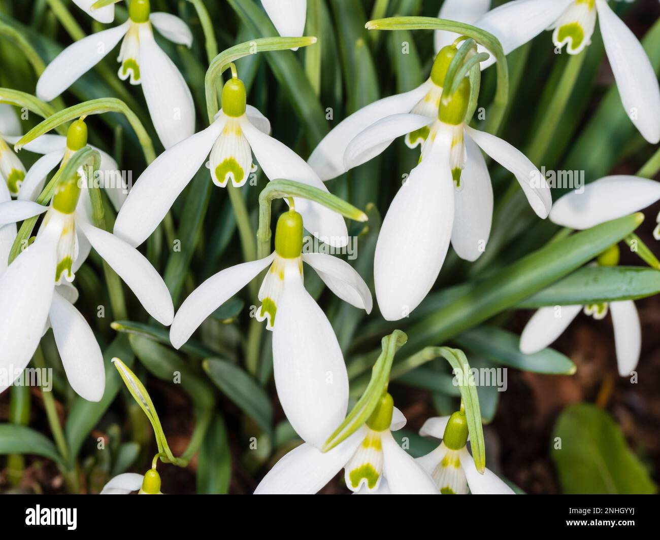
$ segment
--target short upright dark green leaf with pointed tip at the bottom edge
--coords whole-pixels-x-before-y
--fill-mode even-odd
[[[229,492],[231,477],[232,454],[227,428],[222,416],[216,414],[197,456],[197,493],[224,495]]]

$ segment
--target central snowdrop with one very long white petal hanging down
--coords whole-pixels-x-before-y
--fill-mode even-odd
[[[327,437],[323,429],[344,419],[348,376],[335,332],[303,285],[302,263],[312,266],[333,293],[367,313],[372,297],[347,262],[322,253],[302,255],[302,235],[302,216],[293,210],[282,214],[275,252],[226,268],[199,285],[174,317],[170,341],[176,349],[181,347],[207,316],[270,265],[255,316],[267,320],[266,327],[273,330],[277,393],[298,435],[322,444]]]

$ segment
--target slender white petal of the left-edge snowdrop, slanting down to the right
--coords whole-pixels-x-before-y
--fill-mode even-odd
[[[119,237],[86,224],[84,220],[76,220],[76,225],[98,255],[133,291],[147,313],[165,326],[171,324],[174,306],[170,291],[147,257]]]

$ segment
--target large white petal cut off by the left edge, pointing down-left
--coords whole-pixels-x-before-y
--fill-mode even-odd
[[[57,240],[61,226],[51,222],[0,277],[0,371],[23,369],[44,331],[55,289]],[[6,386],[0,385],[0,392]]]

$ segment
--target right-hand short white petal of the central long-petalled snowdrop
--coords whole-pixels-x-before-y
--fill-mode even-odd
[[[374,301],[362,276],[345,260],[325,253],[305,253],[307,264],[319,274],[323,283],[343,301],[371,313]]]

